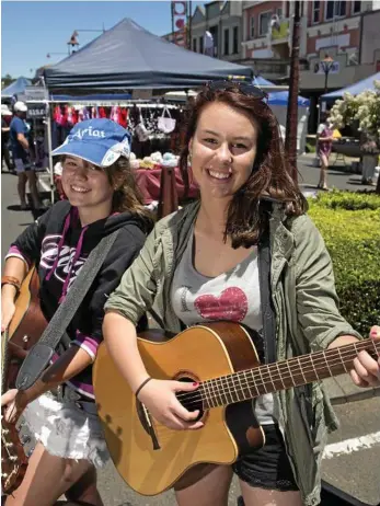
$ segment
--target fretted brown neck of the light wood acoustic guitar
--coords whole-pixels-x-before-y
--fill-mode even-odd
[[[204,409],[224,406],[348,372],[360,350],[380,356],[380,341],[365,340],[203,381]]]

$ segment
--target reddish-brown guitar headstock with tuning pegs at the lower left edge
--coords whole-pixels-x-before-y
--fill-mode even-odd
[[[1,488],[5,495],[18,488],[27,468],[27,457],[14,424],[4,421],[1,411]]]

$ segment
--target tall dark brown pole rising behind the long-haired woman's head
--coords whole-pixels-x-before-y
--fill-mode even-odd
[[[290,175],[298,181],[297,172],[297,126],[298,126],[298,89],[299,89],[299,45],[301,2],[295,1],[295,16],[291,35],[289,103],[286,118],[285,152],[289,160]]]

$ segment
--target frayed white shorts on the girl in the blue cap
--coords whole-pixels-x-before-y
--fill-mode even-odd
[[[110,459],[94,402],[58,400],[48,392],[27,405],[23,422],[50,455],[85,459],[95,468],[103,468]]]

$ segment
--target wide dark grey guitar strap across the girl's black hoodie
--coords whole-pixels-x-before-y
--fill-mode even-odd
[[[38,343],[31,348],[23,361],[15,381],[16,389],[26,390],[32,387],[50,364],[58,343],[102,267],[117,234],[118,230],[103,238],[90,253],[66,299],[54,313]]]

